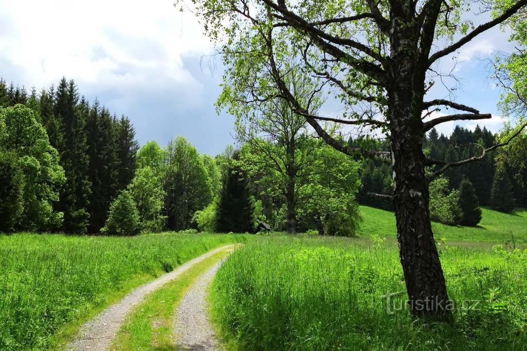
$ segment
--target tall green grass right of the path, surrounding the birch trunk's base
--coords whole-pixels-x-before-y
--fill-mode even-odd
[[[527,252],[445,244],[440,252],[451,324],[413,320],[397,247],[363,239],[249,242],[214,280],[214,314],[251,350],[527,347]],[[387,292],[402,292],[389,309]]]

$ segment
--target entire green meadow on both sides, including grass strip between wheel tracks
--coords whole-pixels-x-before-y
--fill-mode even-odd
[[[133,288],[234,242],[245,245],[227,259],[210,289],[211,317],[229,348],[527,345],[527,211],[483,209],[475,228],[433,223],[454,301],[452,323],[434,324],[413,320],[405,306],[394,214],[361,209],[357,238],[0,236],[0,349],[60,348],[84,321]],[[125,324],[116,349],[170,345],[173,309],[207,262],[152,295]],[[387,294],[394,294],[389,301]],[[164,320],[159,330],[151,329],[154,316]]]

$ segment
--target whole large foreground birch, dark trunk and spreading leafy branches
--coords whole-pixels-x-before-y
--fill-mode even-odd
[[[364,2],[284,0],[193,0],[219,45],[227,66],[224,89],[240,106],[281,98],[336,150],[391,162],[393,200],[408,304],[414,315],[450,318],[443,306],[448,295],[435,246],[428,184],[446,170],[483,159],[510,141],[481,148],[469,159],[448,162],[426,158],[423,139],[438,124],[482,120],[490,114],[447,99],[425,100],[435,65],[485,31],[516,13],[527,0],[506,1],[490,21],[477,27],[461,18],[470,5],[493,2],[463,0],[382,0]],[[227,39],[226,39],[227,36]],[[345,109],[341,118],[311,113],[287,84],[291,67],[312,76],[317,90],[327,89]],[[456,110],[430,121],[438,106]],[[242,108],[242,107],[241,107]],[[423,113],[425,111],[425,113]],[[336,121],[385,132],[390,152],[349,148],[320,124]],[[425,168],[438,165],[426,175]],[[423,306],[423,301],[432,301]]]

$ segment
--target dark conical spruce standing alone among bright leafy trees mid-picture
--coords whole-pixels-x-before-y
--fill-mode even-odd
[[[235,155],[235,159],[238,154]],[[250,199],[247,181],[238,166],[230,169],[223,186],[218,204],[218,231],[244,233],[252,232],[253,202]]]

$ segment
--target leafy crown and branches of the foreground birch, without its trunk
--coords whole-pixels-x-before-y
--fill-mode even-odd
[[[527,5],[527,0],[496,9],[494,18],[477,27],[463,21],[462,14],[479,1],[372,0],[344,6],[337,1],[306,0],[290,4],[273,0],[194,0],[193,3],[228,64],[220,107],[231,104],[231,113],[243,113],[247,104],[285,99],[295,113],[306,118],[319,137],[337,150],[391,161],[388,153],[347,147],[326,133],[320,122],[366,125],[368,130],[380,130],[389,137],[394,120],[388,105],[397,89],[394,84],[397,53],[391,47],[394,42],[412,42],[415,52],[409,56],[417,70],[412,89],[416,95],[424,96],[427,88],[423,83],[430,81],[432,66],[437,61],[513,17]],[[407,15],[407,6],[411,7],[412,17]],[[236,18],[242,19],[235,21]],[[395,33],[394,28],[400,25],[396,21],[405,21],[408,28]],[[448,45],[442,47],[439,43],[443,42]],[[321,90],[340,99],[345,108],[343,116],[314,114],[305,102],[295,99],[287,81],[297,68],[310,76],[313,91]],[[489,113],[445,99],[423,102],[413,112],[421,113],[434,106],[448,106],[466,113],[423,122],[423,132],[445,122],[492,118]]]

